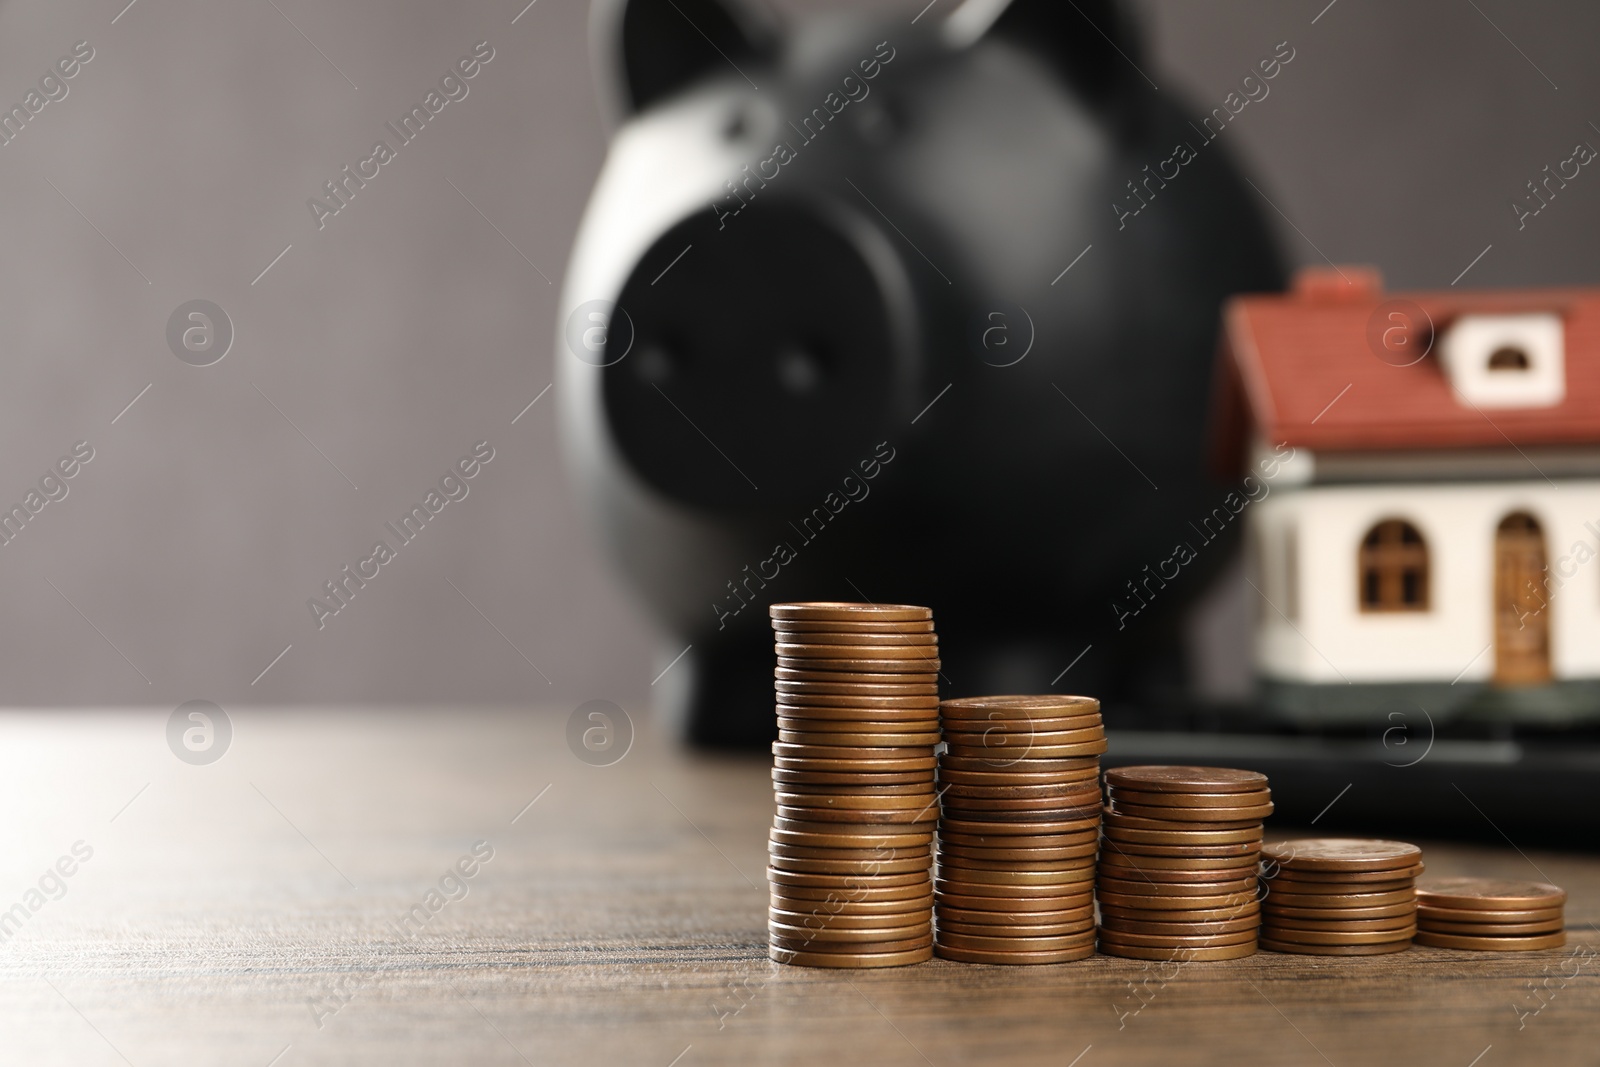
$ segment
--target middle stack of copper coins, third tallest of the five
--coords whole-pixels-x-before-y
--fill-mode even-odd
[[[1214,766],[1106,771],[1099,949],[1133,960],[1237,960],[1256,950],[1256,859],[1267,777]]]

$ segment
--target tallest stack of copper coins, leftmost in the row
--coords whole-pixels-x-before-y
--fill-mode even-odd
[[[910,605],[782,603],[766,870],[779,963],[933,957],[939,646]]]

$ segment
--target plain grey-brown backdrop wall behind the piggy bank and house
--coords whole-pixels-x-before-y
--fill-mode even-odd
[[[587,3],[525,2],[0,6],[6,107],[74,42],[96,50],[0,147],[0,504],[74,442],[96,450],[0,547],[3,702],[642,707],[677,649],[571,512],[552,397],[512,424],[550,382],[605,152]],[[1155,91],[1203,109],[1294,46],[1227,133],[1290,259],[1445,286],[1491,246],[1461,285],[1600,280],[1600,173],[1522,232],[1509,206],[1600,146],[1600,10],[1325,3],[1141,5]],[[875,6],[910,21],[923,0]],[[496,54],[467,99],[318,232],[306,198],[478,40]],[[165,342],[195,298],[235,330],[208,368]],[[306,598],[480,438],[496,459],[467,499],[318,632]],[[1246,685],[1242,590],[1235,569],[1192,625],[1213,693]]]

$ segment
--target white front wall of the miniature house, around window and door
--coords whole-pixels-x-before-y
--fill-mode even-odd
[[[1544,530],[1550,581],[1550,667],[1557,678],[1600,677],[1600,480],[1478,485],[1307,486],[1250,509],[1261,545],[1256,662],[1286,681],[1488,681],[1494,673],[1494,533],[1525,510]],[[1403,518],[1429,549],[1427,611],[1363,613],[1357,568],[1374,523]],[[1586,526],[1590,523],[1590,526]],[[1296,539],[1296,587],[1286,539]],[[1587,555],[1581,553],[1579,555]],[[1285,619],[1285,614],[1294,617]]]

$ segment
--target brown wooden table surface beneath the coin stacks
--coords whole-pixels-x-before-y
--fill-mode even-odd
[[[814,971],[766,960],[760,758],[642,734],[587,766],[565,713],[250,710],[190,766],[166,720],[0,713],[6,1064],[1600,1059],[1592,856],[1424,843],[1432,873],[1566,886],[1555,952]]]

